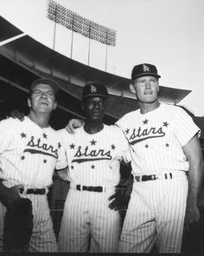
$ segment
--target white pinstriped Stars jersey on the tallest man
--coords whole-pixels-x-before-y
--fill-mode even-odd
[[[182,108],[161,103],[146,114],[141,114],[139,109],[132,111],[116,124],[124,130],[134,150],[131,162],[133,174],[188,171],[182,147],[200,129]]]

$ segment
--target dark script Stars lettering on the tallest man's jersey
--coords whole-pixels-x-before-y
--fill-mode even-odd
[[[137,142],[144,141],[147,139],[153,139],[153,138],[157,138],[157,137],[163,137],[164,135],[165,135],[165,133],[163,132],[162,127],[160,127],[160,128],[152,127],[149,129],[145,128],[143,130],[141,127],[139,127],[137,130],[135,128],[133,129],[133,132],[132,132],[129,140],[134,140],[135,138],[140,138],[140,139],[131,141],[131,144],[134,145]],[[147,136],[147,137],[144,137],[144,136]]]

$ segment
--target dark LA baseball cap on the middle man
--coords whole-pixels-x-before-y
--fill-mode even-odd
[[[100,96],[100,97],[108,97],[108,91],[104,84],[101,83],[88,83],[85,85],[83,89],[82,98],[90,97],[90,96]]]

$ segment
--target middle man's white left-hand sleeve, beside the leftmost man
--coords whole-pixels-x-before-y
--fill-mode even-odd
[[[56,169],[63,169],[68,166],[67,161],[67,152],[66,152],[66,133],[67,131],[64,131],[64,129],[61,129],[57,131],[58,136],[60,137],[61,141],[61,148],[59,150],[58,159],[56,162]]]

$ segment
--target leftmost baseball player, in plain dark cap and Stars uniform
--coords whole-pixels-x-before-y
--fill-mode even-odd
[[[63,161],[61,137],[48,125],[56,108],[58,89],[53,80],[35,80],[28,99],[29,115],[24,121],[9,118],[0,122],[0,251],[7,207],[22,197],[33,205],[29,252],[57,252],[47,194],[53,183],[54,167],[67,164]]]

